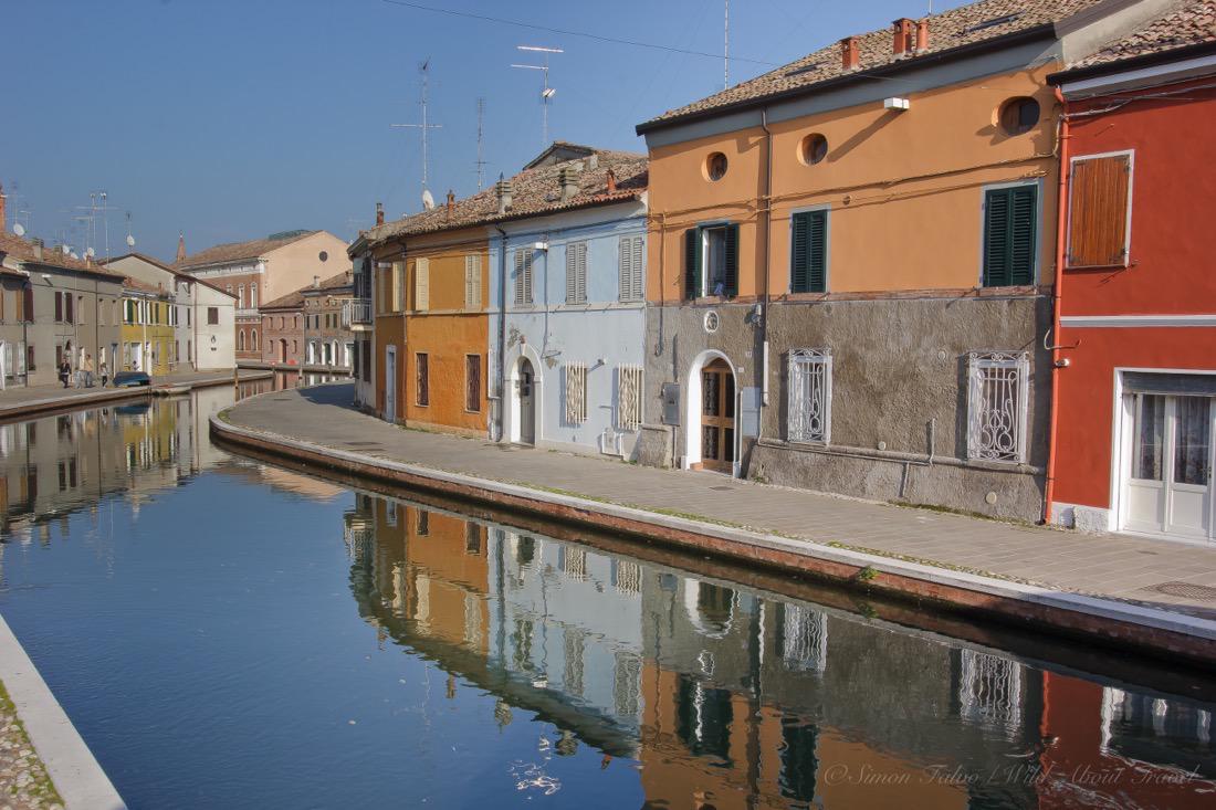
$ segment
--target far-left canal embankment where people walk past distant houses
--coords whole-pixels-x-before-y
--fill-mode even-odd
[[[136,388],[63,388],[63,386],[30,386],[0,390],[0,421],[21,420],[40,414],[107,405],[134,399],[147,399],[165,393],[185,393],[195,388],[231,386],[235,382],[270,379],[270,371],[244,371],[233,376],[231,371],[190,372],[156,377],[151,386]]]

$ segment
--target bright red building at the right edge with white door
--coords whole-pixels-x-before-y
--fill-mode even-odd
[[[1068,171],[1047,507],[1211,542],[1216,0],[1175,9],[1051,77]]]

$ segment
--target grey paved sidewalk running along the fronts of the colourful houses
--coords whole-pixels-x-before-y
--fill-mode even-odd
[[[351,396],[350,384],[285,390],[240,403],[227,418],[344,452],[1216,619],[1216,549],[1010,525],[714,473],[407,431],[354,410]]]

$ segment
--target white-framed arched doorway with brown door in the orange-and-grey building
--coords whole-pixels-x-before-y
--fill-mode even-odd
[[[697,356],[688,373],[685,467],[739,474],[738,386],[720,351]]]

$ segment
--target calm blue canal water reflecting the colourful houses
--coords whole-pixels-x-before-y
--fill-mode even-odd
[[[1216,801],[1199,676],[231,456],[232,396],[0,426],[0,612],[133,808]]]

